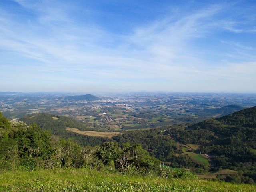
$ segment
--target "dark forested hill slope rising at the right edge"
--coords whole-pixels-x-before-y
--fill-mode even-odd
[[[216,167],[240,170],[256,180],[256,106],[183,129],[172,128],[168,134],[184,144],[200,144],[202,153],[214,157]]]

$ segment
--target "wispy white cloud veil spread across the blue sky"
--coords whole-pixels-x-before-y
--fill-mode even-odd
[[[60,82],[72,82],[122,88],[130,83],[138,89],[159,90],[165,86],[170,91],[178,90],[179,86],[199,90],[192,82],[200,82],[199,86],[204,89],[207,85],[203,86],[202,81],[213,84],[219,78],[237,81],[239,76],[244,82],[248,77],[256,80],[252,76],[255,48],[216,36],[227,30],[234,34],[254,30],[239,28],[241,21],[230,17],[220,18],[225,5],[209,5],[191,12],[178,8],[164,18],[120,34],[96,23],[75,20],[70,15],[70,5],[59,1],[16,2],[35,18],[20,21],[6,11],[0,14],[0,48],[26,58],[9,63],[5,69],[15,67],[26,76],[34,74],[34,78],[41,79],[38,80],[41,84],[51,80],[56,86],[60,86]],[[208,40],[219,42],[218,46],[230,46],[232,51],[213,52],[211,44],[207,46]],[[212,59],[211,54],[220,58]],[[232,57],[239,58],[239,62],[230,60]],[[160,83],[154,83],[156,80]],[[176,86],[171,85],[174,82]]]

